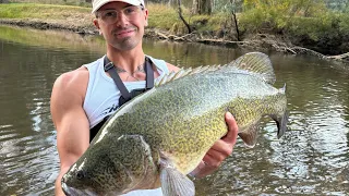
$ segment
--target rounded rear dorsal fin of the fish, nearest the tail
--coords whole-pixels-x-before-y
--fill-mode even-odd
[[[248,71],[269,84],[274,84],[276,81],[270,59],[262,52],[246,53],[227,64],[227,66],[234,66],[238,70]]]

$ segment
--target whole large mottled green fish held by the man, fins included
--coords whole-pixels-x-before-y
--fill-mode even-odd
[[[222,66],[181,70],[123,105],[62,177],[67,195],[121,195],[161,187],[163,194],[195,195],[186,176],[227,134],[231,112],[239,136],[256,143],[263,115],[287,130],[285,87],[264,53],[246,53]]]

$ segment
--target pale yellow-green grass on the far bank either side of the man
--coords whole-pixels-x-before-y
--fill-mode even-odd
[[[57,2],[56,2],[57,1]],[[55,3],[59,3],[56,0]],[[47,2],[47,1],[40,1]],[[173,34],[185,34],[186,28],[180,20],[177,10],[166,4],[148,3],[148,27],[171,30]],[[182,9],[183,16],[195,29],[218,30],[221,28],[225,17],[222,15],[194,15],[188,9]],[[0,4],[0,19],[34,19],[44,21],[71,21],[85,25],[92,24],[91,8],[67,4],[38,4],[38,3],[8,3]]]

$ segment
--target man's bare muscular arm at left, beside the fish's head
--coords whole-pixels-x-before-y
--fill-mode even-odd
[[[63,196],[61,179],[89,145],[89,125],[83,110],[88,72],[76,70],[57,78],[51,95],[51,114],[57,130],[60,173],[56,195]]]

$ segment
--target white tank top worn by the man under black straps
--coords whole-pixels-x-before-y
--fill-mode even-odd
[[[149,56],[147,57],[152,60],[160,76],[169,73],[169,70],[165,61],[154,59]],[[121,93],[118,89],[115,82],[112,81],[112,78],[106,74],[104,70],[104,59],[105,57],[96,60],[95,62],[83,65],[88,70],[89,74],[87,90],[83,106],[89,122],[89,128],[94,127],[96,124],[103,121],[105,117],[115,113],[119,108],[119,98],[121,96]],[[155,78],[155,82],[156,81],[157,78]],[[124,82],[124,86],[129,91],[136,88],[145,88],[145,81]],[[161,188],[157,188],[133,191],[123,196],[161,195]]]

